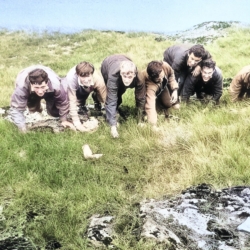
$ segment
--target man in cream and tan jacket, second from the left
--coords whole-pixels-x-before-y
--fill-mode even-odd
[[[77,130],[84,132],[86,129],[80,122],[78,112],[87,115],[85,104],[91,92],[95,109],[101,110],[101,103],[105,102],[107,94],[103,77],[91,63],[83,61],[71,68],[62,82],[68,88],[69,114],[73,124]]]

